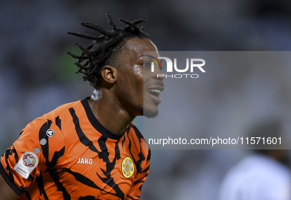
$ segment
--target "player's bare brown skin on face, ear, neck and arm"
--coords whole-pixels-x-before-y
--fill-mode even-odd
[[[147,110],[149,116],[158,113],[159,97],[148,90],[163,90],[162,74],[155,66],[151,72],[151,60],[143,51],[158,58],[158,50],[149,39],[132,38],[126,41],[118,53],[116,66],[105,65],[101,71],[99,97],[88,100],[97,120],[108,130],[122,134],[136,116]],[[0,175],[0,200],[16,200],[17,195]]]

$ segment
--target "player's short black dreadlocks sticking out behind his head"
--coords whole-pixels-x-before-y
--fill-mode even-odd
[[[98,37],[76,32],[67,32],[67,34],[93,40],[92,44],[87,48],[84,48],[82,45],[75,42],[75,45],[77,45],[82,51],[81,55],[75,55],[70,52],[67,52],[67,54],[73,58],[79,59],[77,62],[74,62],[74,64],[79,67],[76,73],[84,74],[84,81],[88,80],[90,85],[94,88],[98,87],[102,67],[104,65],[110,65],[113,62],[115,54],[117,54],[118,50],[122,48],[125,41],[135,37],[150,38],[149,34],[145,32],[144,26],[140,28],[137,26],[137,24],[141,22],[146,22],[145,20],[138,19],[129,22],[120,18],[119,20],[126,24],[126,26],[124,28],[118,28],[113,23],[108,12],[106,13],[106,18],[113,30],[105,30],[104,28],[90,22],[80,23],[87,28],[91,28],[101,33]],[[85,60],[86,62],[82,65],[81,63]]]

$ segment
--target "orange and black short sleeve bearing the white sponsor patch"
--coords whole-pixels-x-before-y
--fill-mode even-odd
[[[60,128],[50,120],[36,119],[1,156],[0,174],[22,195],[41,173],[58,169],[64,152],[65,137]]]

